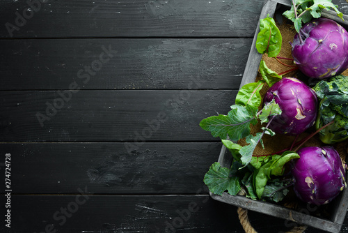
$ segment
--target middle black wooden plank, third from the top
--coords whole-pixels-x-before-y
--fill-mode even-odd
[[[1,142],[216,141],[202,119],[227,114],[235,90],[0,92]],[[73,93],[74,92],[74,93]]]

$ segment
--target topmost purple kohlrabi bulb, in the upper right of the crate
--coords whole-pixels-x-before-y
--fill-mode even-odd
[[[294,36],[292,57],[308,77],[339,75],[348,68],[348,33],[333,20],[312,20]]]

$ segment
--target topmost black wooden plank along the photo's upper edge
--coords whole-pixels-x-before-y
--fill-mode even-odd
[[[258,0],[41,1],[32,1],[32,7],[1,1],[0,37],[250,37],[263,5]]]

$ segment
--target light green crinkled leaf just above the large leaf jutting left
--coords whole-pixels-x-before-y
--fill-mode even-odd
[[[254,107],[259,107],[262,101],[260,90],[264,85],[264,81],[251,82],[245,84],[241,89],[239,89],[235,103],[237,105],[252,105]]]

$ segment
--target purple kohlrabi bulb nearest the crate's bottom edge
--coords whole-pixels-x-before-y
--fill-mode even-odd
[[[347,187],[346,164],[332,146],[309,146],[292,161],[294,192],[303,202],[327,204]]]

